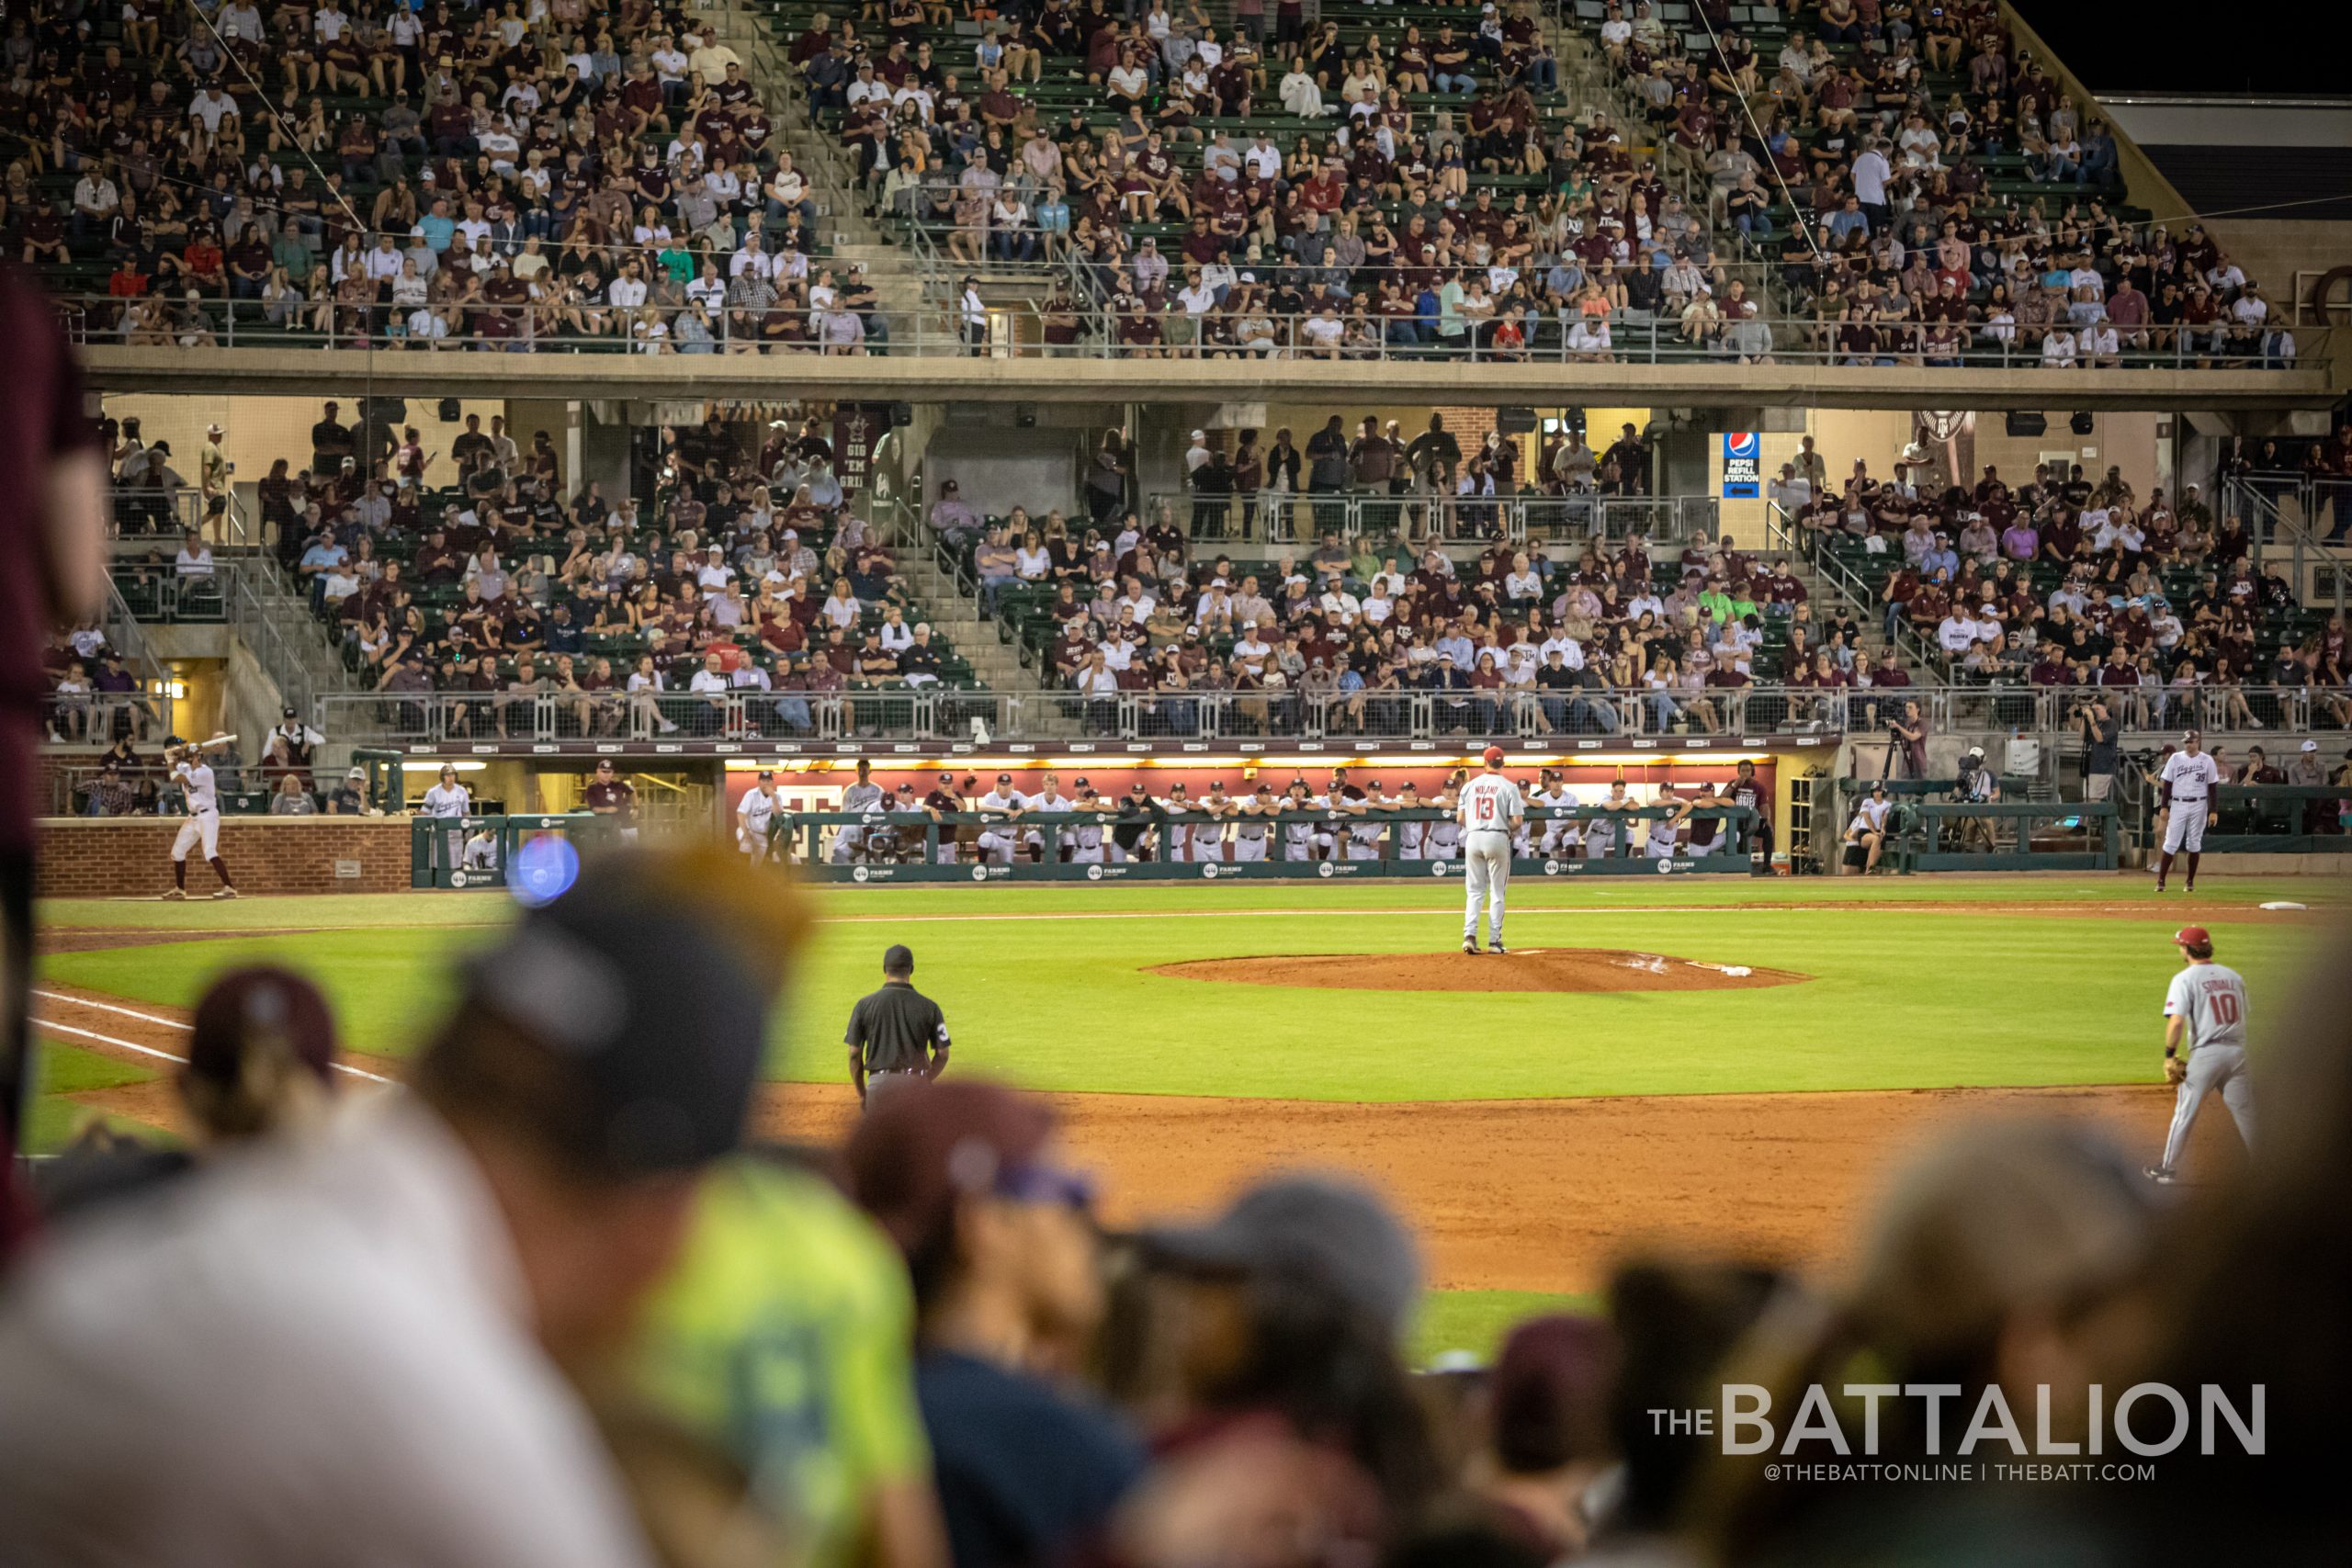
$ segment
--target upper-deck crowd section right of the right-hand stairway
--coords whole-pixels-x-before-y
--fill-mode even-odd
[[[2053,369],[2126,355],[2296,357],[2286,315],[2201,223],[2126,219],[2112,127],[1990,0],[1792,5],[1752,40],[1726,5],[1670,26],[1609,0],[1597,40],[1663,158],[1778,266],[1839,364]],[[1696,47],[1693,47],[1696,42]]]

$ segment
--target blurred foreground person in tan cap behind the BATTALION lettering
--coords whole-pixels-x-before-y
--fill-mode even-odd
[[[2124,1373],[2154,1342],[2145,1291],[2154,1197],[2138,1166],[2089,1128],[2020,1121],[1955,1133],[1896,1180],[1849,1295],[1818,1312],[1776,1312],[1726,1378],[1769,1389],[1780,1434],[1813,1385],[1846,1434],[1865,1432],[1849,1385],[1947,1387],[1940,1415],[1917,1396],[1882,1401],[1872,1458],[1889,1465],[1952,1455],[1990,1389],[2020,1432],[2034,1425],[2084,1443],[2091,1387],[2129,1387]],[[1764,1467],[1778,1453],[1724,1458],[1712,1476],[1708,1533],[1726,1563],[2129,1561],[2084,1530],[2082,1495],[2060,1483],[1773,1479]],[[1828,1441],[1799,1455],[1835,1458]],[[1994,1441],[1976,1458],[2018,1455]]]

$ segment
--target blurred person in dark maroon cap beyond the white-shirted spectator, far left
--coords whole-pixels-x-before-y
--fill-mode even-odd
[[[315,985],[275,966],[228,971],[198,999],[188,1060],[172,1081],[188,1147],[94,1126],[38,1171],[42,1213],[56,1222],[254,1138],[315,1133],[334,1105],[334,1011]]]

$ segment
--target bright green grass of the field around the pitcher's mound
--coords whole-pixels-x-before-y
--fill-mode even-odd
[[[2178,898],[2082,879],[1519,879],[1517,947],[1630,947],[1813,976],[1672,994],[1331,992],[1141,973],[1244,954],[1428,952],[1456,943],[1458,884],[823,889],[771,1074],[835,1079],[840,1025],[882,947],[955,1027],[957,1060],[1056,1091],[1301,1100],[1491,1100],[2110,1084],[2147,1077]],[[2312,882],[2216,879],[2206,905],[2319,903]],[[2340,896],[2336,896],[2340,898]],[[1999,903],[1997,910],[1980,905]],[[2037,914],[2103,903],[2114,912]],[[1882,907],[1926,905],[1926,907]],[[45,973],[186,1006],[226,964],[320,976],[355,1048],[397,1056],[447,1004],[452,961],[494,940],[499,893],[64,900],[52,926],[216,931],[71,952]],[[2256,997],[2281,997],[2319,929],[2213,919]],[[320,926],[273,933],[270,929]],[[249,931],[249,936],[238,936]]]

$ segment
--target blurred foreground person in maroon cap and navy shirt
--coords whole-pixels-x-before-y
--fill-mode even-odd
[[[1103,1286],[1054,1112],[995,1084],[915,1084],[858,1124],[849,1175],[913,1274],[915,1396],[955,1568],[1084,1549],[1143,1448],[1056,1380],[1091,1340]]]

